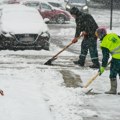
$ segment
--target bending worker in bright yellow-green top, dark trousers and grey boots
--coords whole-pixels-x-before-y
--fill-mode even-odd
[[[98,28],[96,30],[96,36],[101,40],[102,49],[102,66],[99,69],[100,75],[104,72],[107,66],[109,55],[112,56],[112,61],[110,65],[110,82],[111,88],[106,94],[116,94],[117,93],[117,74],[120,78],[120,38],[115,33],[107,34],[105,28]],[[120,94],[120,93],[118,93]]]

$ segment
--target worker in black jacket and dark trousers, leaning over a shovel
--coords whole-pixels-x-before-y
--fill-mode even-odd
[[[74,61],[74,63],[80,66],[84,66],[85,59],[89,50],[91,60],[93,62],[93,65],[90,67],[99,68],[100,65],[98,60],[97,38],[95,36],[95,31],[98,28],[97,23],[90,14],[83,13],[76,7],[70,9],[70,13],[76,21],[76,33],[75,38],[72,42],[77,42],[77,37],[79,37],[80,34],[84,36],[81,43],[81,53],[79,60]]]

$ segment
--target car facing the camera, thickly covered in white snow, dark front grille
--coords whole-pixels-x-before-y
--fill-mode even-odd
[[[49,50],[50,34],[35,8],[20,4],[0,6],[0,49]]]

